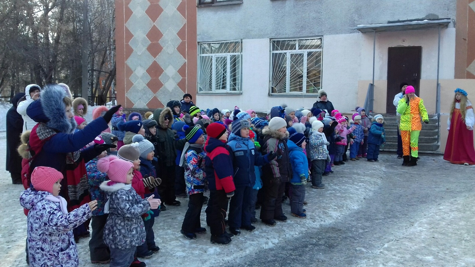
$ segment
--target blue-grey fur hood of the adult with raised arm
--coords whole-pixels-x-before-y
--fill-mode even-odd
[[[65,97],[68,95],[62,86],[47,85],[43,88],[39,101],[43,113],[49,119],[46,125],[60,133],[71,134],[77,124],[74,117],[71,119],[66,117],[66,105],[63,102]]]

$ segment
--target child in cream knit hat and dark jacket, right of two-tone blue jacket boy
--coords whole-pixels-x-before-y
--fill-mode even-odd
[[[262,152],[277,153],[277,158],[270,160],[262,167],[264,183],[264,202],[261,207],[261,220],[269,226],[276,225],[276,221],[285,221],[287,217],[282,210],[282,197],[285,191],[285,183],[290,181],[292,167],[289,159],[289,149],[286,139],[288,132],[287,123],[282,117],[276,116],[264,127],[264,145]]]

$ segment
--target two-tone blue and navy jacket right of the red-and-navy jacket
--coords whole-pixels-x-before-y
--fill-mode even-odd
[[[242,138],[236,134],[229,135],[228,146],[233,152],[234,184],[236,187],[254,186],[256,182],[254,166],[269,163],[267,155],[260,155],[250,138]]]

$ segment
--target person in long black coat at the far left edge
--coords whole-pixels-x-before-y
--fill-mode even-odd
[[[20,135],[23,132],[23,118],[17,112],[17,104],[25,93],[18,93],[11,99],[12,107],[7,112],[7,168],[13,184],[21,184],[21,157],[17,152]]]

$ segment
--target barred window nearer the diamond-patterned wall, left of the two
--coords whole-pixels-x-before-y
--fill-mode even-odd
[[[241,41],[198,44],[198,93],[241,92]]]

